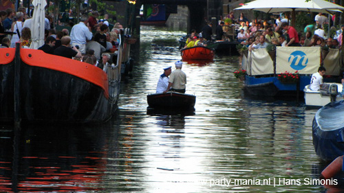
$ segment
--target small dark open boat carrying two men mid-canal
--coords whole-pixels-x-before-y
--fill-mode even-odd
[[[194,110],[196,96],[176,92],[155,93],[147,95],[147,102],[151,109]]]

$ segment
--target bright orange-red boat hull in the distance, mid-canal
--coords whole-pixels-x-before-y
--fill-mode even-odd
[[[195,46],[184,48],[181,50],[182,60],[213,60],[214,59],[214,49]]]

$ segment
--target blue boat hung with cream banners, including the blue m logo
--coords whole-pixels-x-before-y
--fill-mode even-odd
[[[244,89],[250,95],[283,97],[302,95],[303,88],[310,84],[312,73],[321,65],[320,47],[277,47],[275,52],[266,49],[253,49],[242,56],[242,69],[246,75]],[[330,49],[323,60],[326,68],[324,82],[336,82],[341,69],[339,49]],[[298,71],[299,80],[283,82],[279,80],[282,73]]]

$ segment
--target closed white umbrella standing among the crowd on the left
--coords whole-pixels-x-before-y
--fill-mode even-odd
[[[31,49],[38,49],[44,45],[44,19],[45,19],[45,0],[34,0],[34,15],[31,23]]]

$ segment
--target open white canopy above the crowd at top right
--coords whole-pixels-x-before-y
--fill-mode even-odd
[[[256,0],[235,10],[256,10],[266,13],[306,11],[333,14],[334,12],[341,12],[344,7],[323,0],[310,0],[307,2],[305,0]]]

